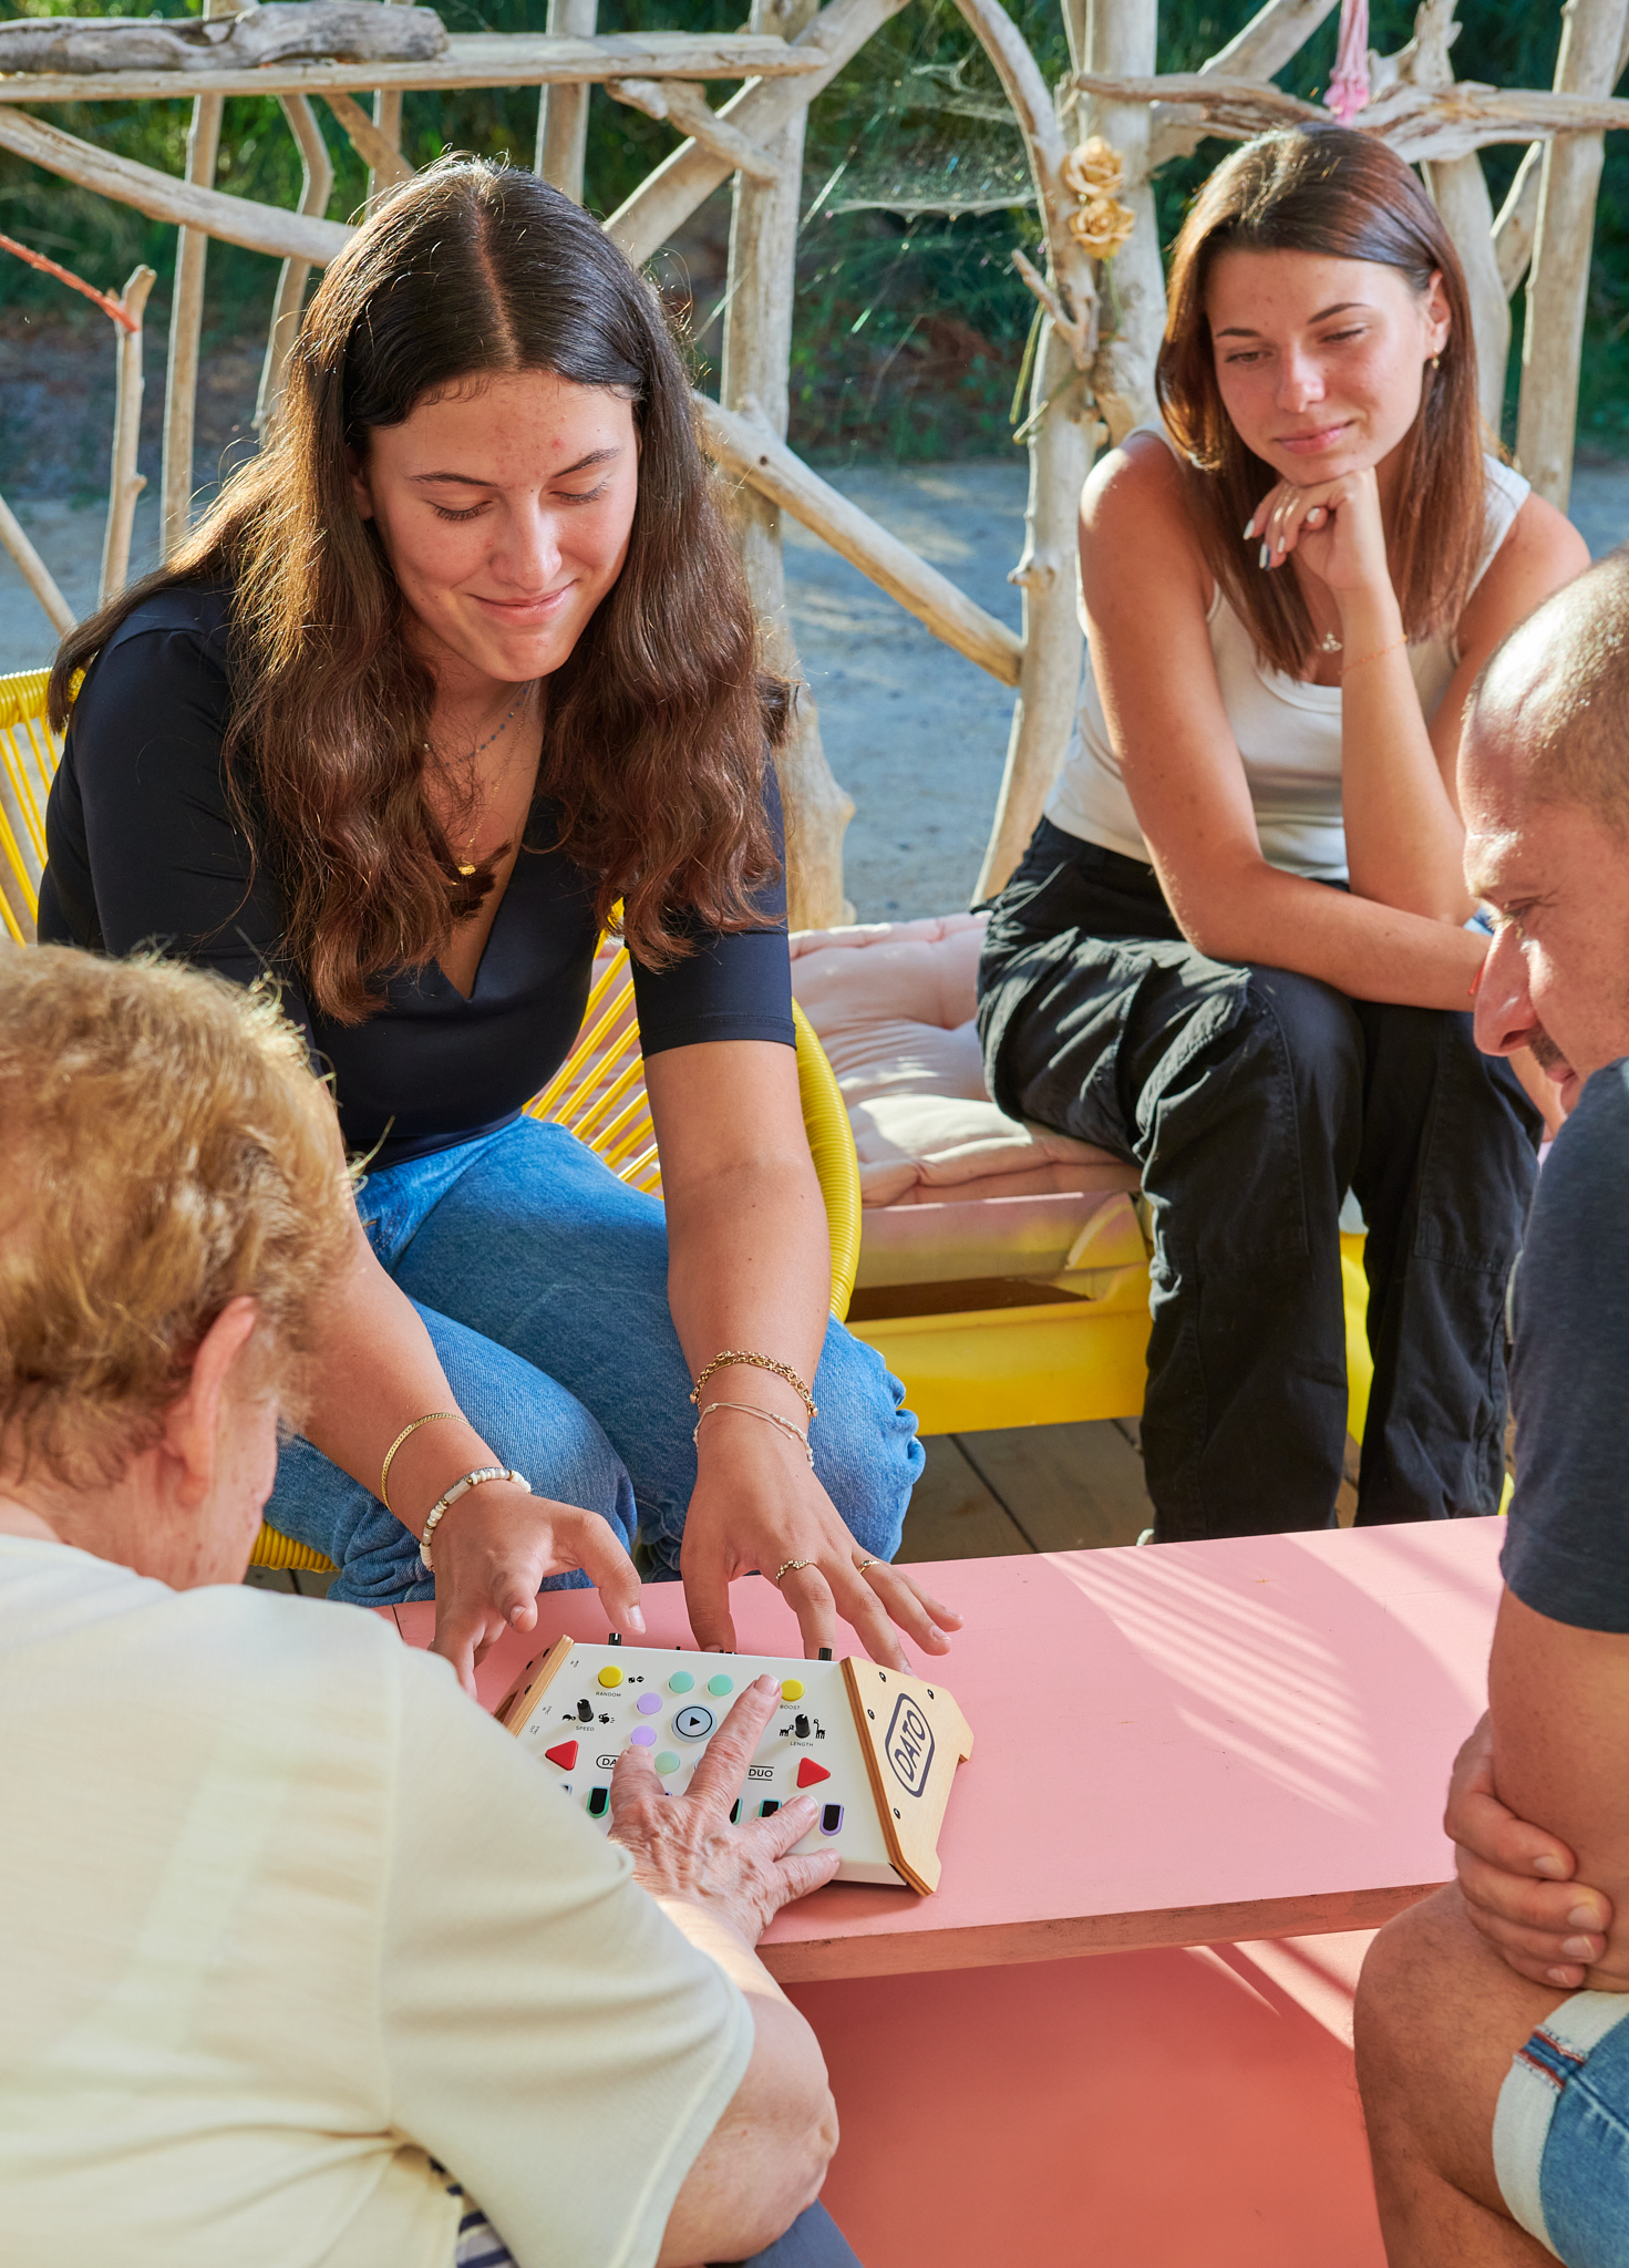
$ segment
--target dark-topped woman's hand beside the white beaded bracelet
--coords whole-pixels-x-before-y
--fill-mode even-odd
[[[436,1640],[458,1683],[474,1694],[474,1669],[504,1631],[538,1624],[545,1576],[581,1567],[615,1628],[644,1633],[633,1560],[599,1513],[551,1497],[529,1497],[488,1481],[461,1497],[431,1538]]]

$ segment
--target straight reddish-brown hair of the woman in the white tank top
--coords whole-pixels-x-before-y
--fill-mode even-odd
[[[1393,576],[1409,637],[1450,635],[1482,558],[1488,435],[1477,408],[1477,347],[1459,254],[1413,172],[1350,127],[1291,127],[1234,150],[1205,181],[1171,254],[1166,336],[1155,386],[1184,460],[1187,506],[1205,565],[1261,655],[1307,676],[1316,637],[1295,576],[1252,574],[1239,528],[1277,472],[1246,447],[1216,383],[1205,293],[1221,252],[1318,252],[1398,268],[1416,293],[1443,279],[1450,331],[1425,372],[1402,442]]]

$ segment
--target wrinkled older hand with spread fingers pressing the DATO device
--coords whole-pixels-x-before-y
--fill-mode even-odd
[[[653,1898],[694,1898],[749,1946],[783,1905],[837,1873],[837,1851],[787,1855],[819,1817],[812,1796],[794,1796],[771,1819],[731,1826],[731,1805],[778,1708],[780,1683],[753,1678],[708,1742],[683,1796],[665,1792],[649,1749],[624,1749],[610,1774],[610,1839],[633,1857],[635,1882]]]

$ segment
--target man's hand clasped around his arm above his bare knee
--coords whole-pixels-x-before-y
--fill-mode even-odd
[[[1495,1953],[1534,1984],[1579,1991],[1604,1957],[1611,1903],[1572,1880],[1577,1860],[1563,1842],[1500,1803],[1486,1717],[1454,1758],[1443,1828],[1466,1910]]]

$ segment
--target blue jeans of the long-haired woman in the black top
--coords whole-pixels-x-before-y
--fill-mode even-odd
[[[638,1533],[651,1579],[672,1581],[697,1486],[697,1413],[667,1309],[662,1204],[560,1127],[517,1118],[370,1175],[361,1213],[481,1438],[538,1495],[599,1513],[628,1549]],[[892,1558],[923,1465],[903,1386],[839,1322],[812,1386],[814,1472],[855,1542]],[[334,1560],[334,1599],[436,1597],[417,1535],[309,1440],[284,1447],[265,1517]],[[585,1583],[572,1572],[545,1590]]]

